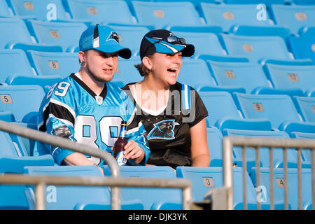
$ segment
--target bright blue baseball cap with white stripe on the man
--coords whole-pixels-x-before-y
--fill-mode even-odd
[[[120,45],[119,38],[120,36],[111,27],[97,24],[83,31],[79,48],[82,51],[95,49],[106,53],[117,52],[118,56],[128,59],[132,52],[129,48]]]

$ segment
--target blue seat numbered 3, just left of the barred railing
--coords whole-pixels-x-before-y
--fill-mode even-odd
[[[208,190],[223,187],[222,167],[176,167],[179,178],[190,179],[193,184],[193,201],[204,200]],[[243,170],[233,168],[233,195],[235,210],[243,209]],[[246,193],[249,210],[257,209],[256,191],[250,177],[246,174]],[[262,209],[269,209],[269,204],[262,203]]]

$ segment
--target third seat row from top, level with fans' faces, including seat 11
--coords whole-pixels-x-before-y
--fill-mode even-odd
[[[141,80],[134,67],[139,62],[139,56],[120,59],[112,81],[123,87]],[[0,50],[0,65],[1,83],[41,85],[45,90],[80,68],[77,53],[27,50],[25,55],[21,49]],[[203,55],[200,59],[183,59],[178,81],[190,83],[198,91],[314,97],[314,68],[307,60],[267,60],[262,66],[248,62],[246,57]],[[196,74],[193,79],[192,74]]]

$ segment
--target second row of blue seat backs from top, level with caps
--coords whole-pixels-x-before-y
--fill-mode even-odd
[[[138,54],[141,39],[150,30],[150,27],[145,26],[110,26],[120,34],[121,43],[129,47],[133,55]],[[30,45],[28,46],[29,50],[34,48],[33,45],[39,45],[43,49],[50,46],[50,49],[47,49],[50,51],[53,50],[51,47],[55,46],[54,51],[59,51],[61,47],[64,52],[73,52],[78,51],[80,34],[87,28],[87,25],[83,22],[44,22],[38,20],[27,20],[24,22],[19,18],[1,18],[0,28],[3,31],[3,35],[0,38],[0,48],[11,49],[16,48],[18,43],[28,43]],[[242,55],[254,61],[258,61],[262,57],[271,56],[274,58],[292,59],[292,56],[288,53],[288,50],[290,50],[297,59],[305,58],[306,56],[314,59],[314,48],[311,45],[311,43],[314,43],[314,31],[312,31],[314,30],[314,25],[305,29],[307,34],[302,36],[290,36],[290,31],[286,27],[239,26],[232,29],[230,35],[222,34],[224,30],[218,26],[170,27],[169,29],[174,31],[177,36],[183,36],[190,43],[196,45],[195,56],[202,54],[226,55],[228,53],[229,55]],[[261,37],[259,38],[258,36]],[[286,43],[287,39],[288,43]],[[267,52],[265,48],[266,42],[272,47],[269,50],[272,50],[274,55]],[[44,43],[48,46],[43,45]],[[239,43],[242,44],[240,45]],[[260,45],[263,47],[260,48]],[[207,48],[204,48],[204,46],[207,46]],[[299,50],[301,47],[302,50]]]

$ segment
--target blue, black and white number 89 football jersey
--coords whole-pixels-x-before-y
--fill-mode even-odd
[[[38,116],[38,130],[65,137],[80,144],[108,151],[115,144],[120,123],[130,120],[134,104],[127,94],[112,83],[106,83],[97,96],[77,74],[56,83],[41,104]],[[133,139],[144,149],[145,159],[140,165],[146,165],[151,154],[143,125],[132,130],[127,129],[127,139]],[[52,154],[58,165],[73,151],[64,148],[37,143],[34,155]],[[90,158],[87,156],[87,158]],[[99,158],[90,158],[97,165],[104,165]],[[129,161],[132,165],[133,161]]]

